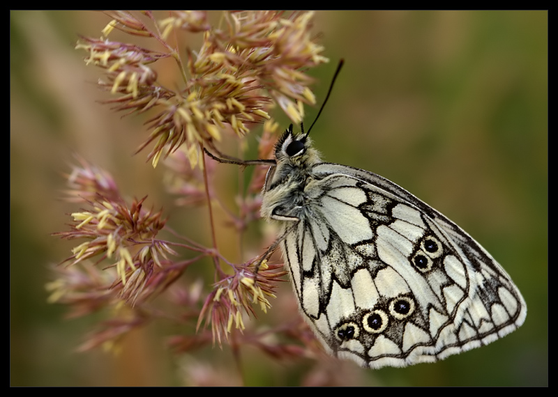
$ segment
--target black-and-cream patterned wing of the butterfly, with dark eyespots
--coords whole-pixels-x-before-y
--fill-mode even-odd
[[[518,288],[444,215],[368,171],[320,163],[312,174],[282,250],[301,312],[331,354],[407,366],[522,325]]]

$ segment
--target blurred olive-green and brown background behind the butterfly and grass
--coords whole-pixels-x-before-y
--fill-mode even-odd
[[[127,195],[172,208],[162,167],[153,171],[147,152],[132,155],[145,119],[98,104],[103,95],[89,84],[96,70],[73,49],[77,34],[99,37],[109,20],[10,13],[12,386],[189,384],[188,371],[208,365],[169,354],[156,325],[131,335],[118,357],[77,353],[98,319],[64,320],[63,307],[46,303],[48,265],[72,247],[50,233],[75,210],[59,201],[73,153],[113,173]],[[345,59],[312,130],[323,158],[378,173],[443,212],[502,263],[529,308],[513,334],[437,364],[366,371],[340,363],[345,384],[547,386],[548,12],[325,11],[314,32],[331,60],[310,72],[319,103]],[[307,124],[316,113],[307,108]],[[234,365],[226,347],[206,354],[216,368]],[[243,362],[246,384],[278,386],[300,384],[311,366],[258,352]],[[223,384],[234,384],[227,376]]]

